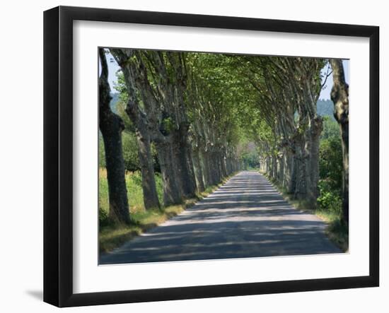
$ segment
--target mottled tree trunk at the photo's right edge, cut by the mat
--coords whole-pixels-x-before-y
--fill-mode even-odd
[[[334,102],[334,117],[339,123],[342,138],[342,211],[344,223],[349,223],[349,85],[344,78],[342,60],[330,59],[334,85],[331,100]]]

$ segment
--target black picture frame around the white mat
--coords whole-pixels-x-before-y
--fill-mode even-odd
[[[367,37],[370,46],[369,275],[184,288],[73,292],[73,21],[174,25],[267,32]],[[59,6],[44,13],[44,301],[58,307],[107,305],[379,284],[379,28],[181,13]]]

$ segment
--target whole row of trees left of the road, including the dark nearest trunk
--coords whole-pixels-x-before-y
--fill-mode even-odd
[[[235,112],[228,101],[223,101],[220,90],[213,88],[216,81],[207,73],[207,67],[202,68],[204,63],[199,59],[204,55],[134,49],[110,49],[110,53],[122,71],[125,112],[137,137],[146,209],[161,208],[152,145],[161,168],[164,206],[182,203],[238,170]],[[124,122],[110,110],[105,49],[99,54],[100,131],[108,172],[110,218],[129,223],[121,138]]]

